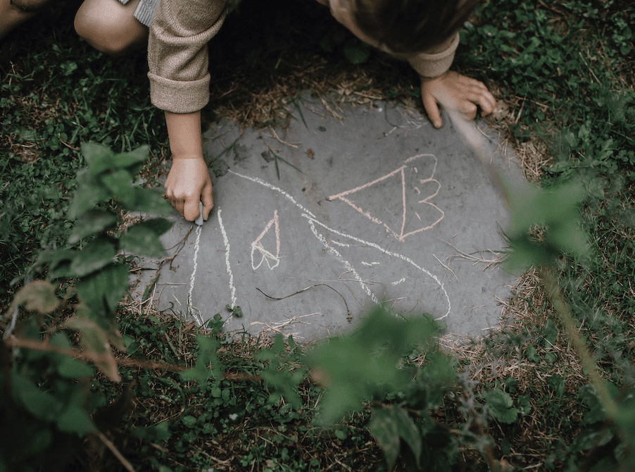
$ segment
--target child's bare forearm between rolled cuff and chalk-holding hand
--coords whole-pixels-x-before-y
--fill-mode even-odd
[[[194,113],[165,112],[172,159],[203,159],[201,111]]]

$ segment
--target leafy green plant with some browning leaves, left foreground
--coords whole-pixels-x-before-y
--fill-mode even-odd
[[[11,323],[0,341],[0,416],[3,435],[19,440],[1,442],[2,468],[31,470],[46,464],[48,470],[61,470],[74,459],[87,433],[113,447],[91,417],[105,398],[92,391],[89,378],[94,371],[86,361],[120,382],[113,347],[125,351],[125,344],[115,310],[129,277],[120,252],[161,256],[158,235],[171,226],[164,219],[142,221],[115,237],[120,223],[116,213],[94,209],[114,196],[128,211],[171,210],[155,190],[132,185],[148,156],[146,147],[115,154],[85,144],[83,154],[88,168],[78,175],[70,205],[70,218],[76,221],[69,243],[77,248],[44,252],[37,261],[38,266],[48,264],[49,280],[70,278],[77,288],[71,285],[59,300],[51,282],[35,280],[18,292],[6,313],[5,322],[11,318]],[[75,290],[77,302],[71,303]],[[20,317],[20,306],[37,314]],[[81,352],[74,347],[72,331],[79,333]]]

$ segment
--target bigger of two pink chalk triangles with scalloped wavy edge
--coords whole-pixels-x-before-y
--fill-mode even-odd
[[[420,183],[422,183],[422,184],[425,184],[427,182],[436,183],[436,190],[434,191],[434,193],[432,195],[429,195],[425,199],[419,200],[417,203],[425,204],[425,205],[428,205],[428,206],[432,206],[432,208],[436,209],[436,211],[438,211],[440,214],[439,214],[439,217],[436,219],[436,221],[434,221],[433,223],[430,223],[429,225],[426,225],[425,227],[422,227],[422,228],[417,228],[417,230],[405,232],[405,223],[406,223],[406,219],[407,219],[406,212],[407,212],[407,208],[408,208],[408,206],[406,204],[406,192],[405,192],[405,190],[406,190],[406,188],[405,188],[406,187],[406,185],[405,185],[405,170],[407,170],[409,168],[409,166],[408,166],[409,163],[415,161],[416,159],[420,159],[420,158],[432,158],[432,159],[434,159],[434,166],[432,168],[432,173],[431,173],[429,178],[427,178],[427,179],[417,179],[417,180]],[[436,180],[434,178],[434,173],[436,172],[436,163],[437,163],[437,159],[436,159],[436,156],[434,156],[433,154],[418,154],[417,156],[413,156],[413,157],[410,157],[409,159],[406,159],[403,166],[393,170],[391,173],[388,173],[388,174],[384,175],[383,177],[380,177],[380,178],[378,178],[376,180],[373,180],[372,182],[368,182],[365,185],[360,185],[359,187],[356,187],[356,188],[351,189],[351,190],[347,190],[346,192],[341,192],[339,194],[332,195],[328,199],[329,200],[340,199],[341,201],[346,202],[348,205],[352,206],[353,209],[356,209],[357,211],[362,213],[364,216],[369,218],[370,221],[372,221],[373,223],[377,223],[378,225],[383,225],[384,228],[386,228],[386,231],[388,231],[392,235],[394,235],[394,237],[396,237],[397,240],[403,242],[403,240],[405,240],[405,238],[408,237],[408,236],[415,235],[417,232],[421,232],[421,231],[429,230],[430,228],[434,228],[434,226],[436,224],[438,224],[441,220],[443,220],[444,217],[445,217],[444,211],[441,210],[435,204],[433,204],[431,201],[429,201],[430,199],[436,197],[436,195],[439,194],[439,190],[441,189],[441,184],[439,183],[438,180]],[[417,168],[415,168],[415,167],[413,167],[413,170],[414,170],[415,173],[419,172],[419,170],[417,170]],[[356,204],[350,198],[348,198],[349,195],[355,194],[356,192],[360,192],[361,190],[369,189],[373,185],[377,185],[377,184],[379,184],[379,182],[384,182],[384,180],[389,179],[389,178],[393,177],[394,175],[397,175],[398,177],[401,177],[401,228],[399,228],[398,230],[394,230],[394,229],[390,228],[389,225],[387,225],[386,223],[382,222],[377,216],[373,216],[370,213],[370,211],[365,211],[362,208],[362,206],[365,206],[364,204]],[[417,187],[414,187],[414,188],[417,191],[417,194],[421,194],[421,191]],[[421,221],[421,217],[419,216],[419,213],[417,213],[415,211],[415,215]],[[422,223],[422,224],[425,224],[425,223]]]

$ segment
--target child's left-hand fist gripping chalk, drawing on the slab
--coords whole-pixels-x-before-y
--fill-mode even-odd
[[[165,197],[187,221],[199,218],[199,201],[203,202],[203,219],[207,220],[214,206],[212,180],[203,157],[172,159],[172,168],[165,181]]]

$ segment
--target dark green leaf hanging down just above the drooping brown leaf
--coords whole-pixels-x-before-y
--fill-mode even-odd
[[[82,278],[77,292],[96,313],[113,313],[128,288],[129,277],[126,264],[113,263]]]

